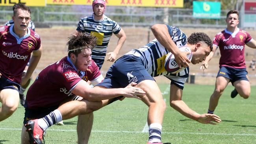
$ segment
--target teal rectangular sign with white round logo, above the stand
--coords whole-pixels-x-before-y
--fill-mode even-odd
[[[221,2],[198,2],[193,1],[194,18],[221,18]]]

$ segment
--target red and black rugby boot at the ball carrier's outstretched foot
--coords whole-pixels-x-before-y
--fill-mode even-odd
[[[44,144],[43,143],[43,129],[37,123],[38,119],[29,120],[26,124],[26,131],[28,132],[30,144]]]

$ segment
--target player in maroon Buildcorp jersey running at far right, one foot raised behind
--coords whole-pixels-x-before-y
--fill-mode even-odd
[[[208,61],[219,46],[221,58],[219,60],[220,70],[215,82],[215,90],[210,98],[208,113],[213,113],[218,105],[219,98],[229,82],[235,89],[231,92],[231,97],[239,94],[243,98],[250,96],[250,83],[245,66],[245,44],[250,48],[256,48],[256,41],[249,33],[240,30],[239,13],[231,10],[226,16],[227,28],[218,33],[213,39],[213,51],[210,53],[201,68],[208,68]]]

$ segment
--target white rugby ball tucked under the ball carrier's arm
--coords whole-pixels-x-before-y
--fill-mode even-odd
[[[179,49],[182,52],[190,52],[190,54],[187,54],[187,58],[191,61],[193,54],[190,48],[187,46],[180,46]],[[184,69],[184,67],[179,68],[178,63],[175,61],[174,55],[169,52],[165,58],[165,70],[171,74],[176,74]]]

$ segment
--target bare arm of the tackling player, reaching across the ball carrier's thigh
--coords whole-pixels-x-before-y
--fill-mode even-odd
[[[135,83],[132,83],[125,88],[119,89],[103,89],[99,87],[91,88],[86,81],[81,80],[76,85],[76,87],[73,90],[71,90],[71,92],[91,102],[107,100],[118,96],[125,96],[127,98],[137,98],[141,100],[141,98],[146,94],[146,92],[144,92],[142,89],[132,87],[134,85]]]

